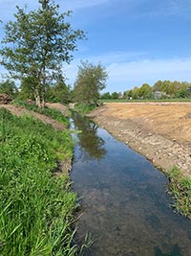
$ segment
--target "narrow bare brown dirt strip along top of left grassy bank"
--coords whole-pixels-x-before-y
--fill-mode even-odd
[[[24,108],[22,106],[0,105],[0,107],[7,108],[8,110],[11,111],[12,114],[17,115],[17,116],[21,116],[21,115],[24,115],[24,114],[27,114],[29,116],[33,116],[34,118],[42,121],[43,123],[52,125],[53,128],[55,128],[55,129],[64,129],[65,128],[64,125],[62,125],[59,122],[55,121],[53,118],[51,118],[49,116],[46,116],[46,115],[42,115],[42,114],[36,113],[34,111],[27,110],[26,108]]]

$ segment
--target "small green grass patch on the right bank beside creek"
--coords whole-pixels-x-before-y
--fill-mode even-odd
[[[174,198],[173,206],[180,214],[191,219],[191,177],[181,175],[177,167],[174,167],[167,176],[170,181],[169,192]]]

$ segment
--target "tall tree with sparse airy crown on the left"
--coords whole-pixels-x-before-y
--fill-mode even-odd
[[[60,76],[63,62],[71,62],[76,40],[84,33],[73,30],[65,21],[71,12],[60,14],[53,0],[39,0],[39,4],[37,11],[28,13],[16,7],[15,21],[5,26],[0,63],[12,78],[30,78],[36,105],[44,106],[46,86]]]

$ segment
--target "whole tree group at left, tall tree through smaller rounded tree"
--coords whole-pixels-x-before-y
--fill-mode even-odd
[[[62,66],[73,59],[76,41],[85,37],[84,32],[73,30],[66,21],[71,12],[60,14],[59,5],[53,0],[39,0],[39,5],[37,11],[31,12],[17,6],[15,21],[5,25],[0,63],[13,81],[20,81],[20,88],[13,81],[2,81],[0,93],[33,99],[39,107],[43,107],[45,101],[97,105],[99,91],[106,86],[105,68],[100,63],[82,61],[71,90]]]

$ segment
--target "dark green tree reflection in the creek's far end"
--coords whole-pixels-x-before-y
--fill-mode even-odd
[[[84,159],[96,158],[101,159],[105,154],[105,141],[97,136],[97,126],[95,123],[82,118],[74,112],[74,126],[82,132],[78,134],[78,144],[84,150],[81,151]]]

